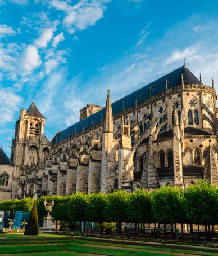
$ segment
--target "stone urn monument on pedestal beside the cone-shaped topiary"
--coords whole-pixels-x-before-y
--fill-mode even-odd
[[[47,211],[46,217],[43,218],[43,227],[40,228],[40,231],[43,233],[52,232],[54,231],[53,225],[53,218],[50,215],[52,208],[54,206],[54,200],[52,199],[51,202],[47,202],[46,198],[44,198],[44,208]]]

